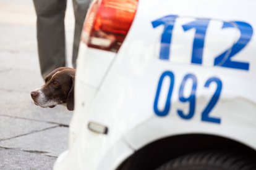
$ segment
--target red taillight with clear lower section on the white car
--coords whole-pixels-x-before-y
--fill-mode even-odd
[[[138,0],[96,0],[83,23],[88,47],[117,52],[134,20]]]

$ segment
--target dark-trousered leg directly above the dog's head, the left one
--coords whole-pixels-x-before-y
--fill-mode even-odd
[[[38,55],[43,78],[66,64],[66,0],[33,0],[37,15]]]

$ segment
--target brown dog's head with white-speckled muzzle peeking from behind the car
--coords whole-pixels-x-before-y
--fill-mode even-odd
[[[60,67],[45,77],[45,85],[30,93],[33,102],[40,107],[53,108],[64,104],[74,110],[75,69]]]

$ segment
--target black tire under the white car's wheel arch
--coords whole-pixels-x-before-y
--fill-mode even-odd
[[[156,170],[255,170],[256,161],[234,153],[201,152],[180,156]]]

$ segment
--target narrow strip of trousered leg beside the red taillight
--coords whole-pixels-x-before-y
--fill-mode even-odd
[[[76,67],[77,54],[79,51],[80,36],[82,33],[83,22],[85,15],[90,6],[90,0],[73,0],[74,14],[75,14],[75,33],[74,33],[74,44],[72,53],[72,64]]]

